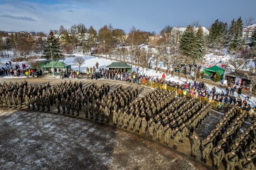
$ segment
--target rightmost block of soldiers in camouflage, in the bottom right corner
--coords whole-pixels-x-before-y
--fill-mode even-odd
[[[241,170],[256,169],[256,121],[241,132],[246,117],[245,111],[237,113],[234,108],[225,113],[211,134],[202,140],[201,161],[206,163],[212,157],[212,167],[216,169],[222,160],[227,170],[236,166]]]

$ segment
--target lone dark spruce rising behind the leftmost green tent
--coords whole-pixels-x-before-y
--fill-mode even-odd
[[[50,48],[50,44],[51,48]],[[47,40],[44,42],[44,57],[47,59],[51,59],[51,49],[52,49],[52,59],[54,61],[60,60],[62,58],[61,45],[59,43],[59,39],[54,37],[54,33],[50,31]]]

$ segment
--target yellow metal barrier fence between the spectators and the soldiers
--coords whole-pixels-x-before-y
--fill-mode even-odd
[[[149,86],[149,87],[153,87],[153,88],[158,88],[158,89],[166,89],[168,92],[172,92],[172,91],[176,91],[176,95],[179,97],[186,97],[188,100],[194,98],[194,100],[196,102],[200,101],[202,102],[204,105],[211,103],[211,108],[214,110],[217,110],[219,112],[224,112],[227,113],[233,106],[230,105],[226,105],[224,103],[221,102],[216,102],[215,100],[211,100],[209,98],[206,97],[202,97],[199,95],[195,95],[195,94],[191,94],[185,90],[180,90],[177,88],[173,88],[167,85],[163,85],[161,83],[157,83],[157,82],[152,82],[149,80],[146,80],[145,83],[142,83],[143,85]],[[243,110],[241,110],[240,108],[236,109],[236,114],[239,115],[240,113],[242,113]],[[252,120],[253,114],[254,113],[248,113],[248,121],[250,122]]]

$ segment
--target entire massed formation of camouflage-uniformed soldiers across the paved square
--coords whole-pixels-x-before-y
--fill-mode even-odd
[[[96,121],[113,122],[113,125],[137,133],[142,132],[157,141],[163,139],[168,145],[173,140],[173,148],[190,138],[191,156],[202,152],[201,161],[212,158],[213,167],[226,160],[227,169],[236,165],[241,169],[250,169],[255,163],[255,127],[254,121],[243,133],[238,133],[246,114],[238,116],[234,109],[219,121],[216,128],[202,142],[195,128],[211,110],[211,105],[202,105],[194,99],[185,97],[175,101],[175,92],[156,89],[143,97],[138,97],[138,88],[127,90],[118,86],[110,90],[108,84],[98,86],[91,83],[84,87],[82,82],[61,82],[51,86],[31,85],[26,80],[0,84],[0,107],[37,109],[50,112],[53,107],[63,114],[71,114]],[[53,106],[53,107],[50,107]]]

